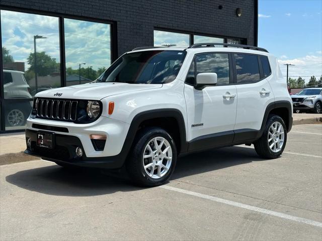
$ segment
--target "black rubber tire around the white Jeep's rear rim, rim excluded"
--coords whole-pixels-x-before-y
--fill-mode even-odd
[[[279,122],[282,125],[283,129],[284,129],[283,146],[282,146],[281,150],[279,150],[278,152],[272,151],[270,146],[269,146],[269,143],[268,143],[268,132],[269,132],[269,129],[270,129],[271,125],[274,122]],[[260,139],[258,139],[254,143],[254,146],[255,146],[255,150],[256,150],[257,154],[260,157],[265,158],[265,159],[273,159],[273,158],[278,158],[282,154],[282,152],[283,152],[283,150],[285,148],[285,145],[286,145],[286,141],[287,141],[287,129],[286,129],[286,126],[285,126],[285,123],[284,123],[283,119],[281,117],[277,116],[277,115],[270,115],[268,117],[267,122],[266,122],[263,135],[261,136]]]

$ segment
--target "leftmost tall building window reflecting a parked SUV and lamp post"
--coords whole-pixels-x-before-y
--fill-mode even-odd
[[[1,10],[1,31],[6,130],[22,129],[32,97],[61,85],[58,18]]]

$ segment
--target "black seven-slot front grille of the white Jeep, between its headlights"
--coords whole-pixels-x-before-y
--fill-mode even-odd
[[[77,101],[37,98],[35,103],[36,115],[39,118],[60,121],[75,121]]]

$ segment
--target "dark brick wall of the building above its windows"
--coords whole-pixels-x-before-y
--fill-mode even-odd
[[[115,21],[118,55],[153,46],[155,27],[245,38],[249,45],[257,34],[257,0],[0,0],[0,5]],[[236,8],[242,10],[239,18]]]

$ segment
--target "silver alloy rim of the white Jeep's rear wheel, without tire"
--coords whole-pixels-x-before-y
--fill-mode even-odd
[[[279,152],[284,145],[284,128],[278,121],[268,130],[268,145],[273,152]]]

